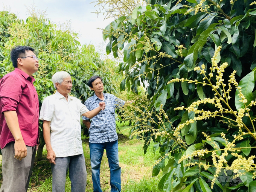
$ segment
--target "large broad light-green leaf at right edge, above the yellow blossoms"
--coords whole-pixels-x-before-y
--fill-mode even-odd
[[[248,100],[245,105],[248,105],[253,100],[252,91],[254,89],[254,72],[247,74],[244,78],[241,79],[241,81],[238,84],[238,87],[241,87],[242,94],[245,96],[245,98]],[[240,108],[244,108],[244,103],[240,102],[239,100],[239,91],[236,89],[236,96],[235,96],[235,106],[236,109],[239,110]]]

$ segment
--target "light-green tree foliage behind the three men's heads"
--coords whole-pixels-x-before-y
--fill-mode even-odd
[[[108,69],[110,61],[101,60],[93,45],[81,46],[78,34],[66,25],[59,27],[52,23],[42,12],[38,14],[32,9],[30,14],[25,22],[15,14],[0,12],[0,77],[13,70],[10,58],[12,47],[31,46],[40,59],[39,70],[34,74],[40,107],[43,99],[55,92],[52,75],[62,70],[70,73],[73,81],[71,94],[82,102],[91,96],[87,80],[93,75],[103,78],[108,93],[116,93],[117,89],[113,85],[115,76]],[[44,146],[42,133],[40,140],[39,159]]]

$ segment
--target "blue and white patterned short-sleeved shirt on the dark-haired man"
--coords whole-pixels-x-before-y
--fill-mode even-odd
[[[90,143],[113,142],[118,139],[116,133],[115,109],[123,106],[125,101],[117,98],[113,94],[103,93],[103,95],[106,107],[91,119],[91,126],[89,128]],[[102,100],[94,94],[84,102],[84,105],[91,111],[99,107],[99,102],[102,102]],[[82,119],[89,120],[84,116],[82,116]]]

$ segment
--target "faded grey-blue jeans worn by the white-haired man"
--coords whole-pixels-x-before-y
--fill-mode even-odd
[[[65,192],[66,175],[69,170],[72,192],[85,192],[86,167],[84,154],[69,157],[56,157],[52,166],[52,192]]]

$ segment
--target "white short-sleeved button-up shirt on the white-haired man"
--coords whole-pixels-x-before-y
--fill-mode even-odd
[[[67,101],[68,100],[68,101]],[[69,157],[83,153],[80,117],[89,111],[81,101],[56,91],[44,99],[40,120],[50,121],[50,140],[56,157]]]

